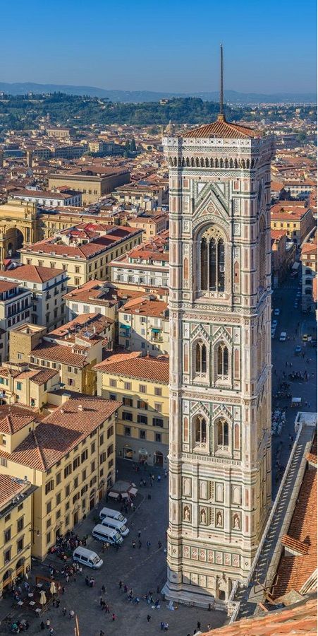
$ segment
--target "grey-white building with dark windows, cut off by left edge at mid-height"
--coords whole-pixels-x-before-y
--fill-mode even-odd
[[[31,296],[30,290],[18,283],[0,281],[0,329],[4,331],[0,363],[8,358],[8,332],[17,324],[30,322]]]

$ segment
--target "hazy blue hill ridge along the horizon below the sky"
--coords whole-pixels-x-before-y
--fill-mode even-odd
[[[25,93],[67,93],[68,95],[90,95],[92,97],[108,98],[111,102],[137,104],[141,102],[157,102],[164,98],[195,97],[204,101],[217,102],[219,93],[163,93],[151,90],[107,90],[94,86],[70,86],[68,84],[35,84],[0,82],[0,92],[10,95],[25,95]],[[225,99],[230,104],[293,104],[317,103],[315,93],[274,93],[263,95],[260,93],[238,93],[236,90],[226,90]]]

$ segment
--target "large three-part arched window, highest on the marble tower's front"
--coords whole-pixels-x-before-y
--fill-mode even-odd
[[[201,239],[201,290],[224,292],[225,244],[216,228],[209,228]]]

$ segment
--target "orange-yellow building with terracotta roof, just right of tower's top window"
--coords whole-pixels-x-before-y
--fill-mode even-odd
[[[286,230],[288,238],[301,245],[314,228],[312,209],[302,201],[281,201],[271,206],[271,230]]]

